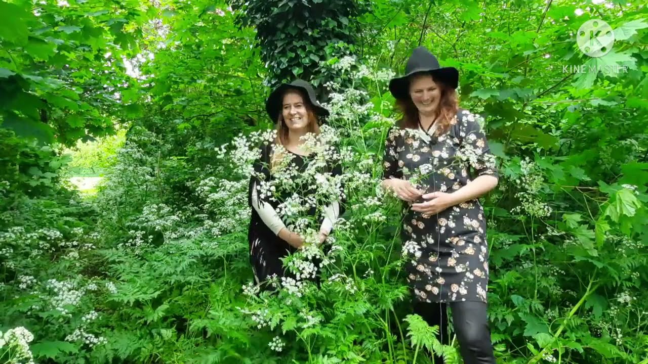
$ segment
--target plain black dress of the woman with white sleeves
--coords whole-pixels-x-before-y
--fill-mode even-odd
[[[268,227],[263,220],[260,218],[259,213],[252,206],[252,188],[257,186],[257,196],[259,196],[259,203],[270,203],[273,209],[277,210],[277,207],[281,204],[282,201],[285,201],[286,198],[289,198],[294,193],[299,194],[301,198],[307,198],[312,196],[316,192],[316,183],[315,181],[307,181],[301,186],[294,186],[291,190],[285,190],[283,188],[277,189],[277,194],[274,198],[264,198],[262,194],[259,193],[259,186],[261,181],[273,181],[273,176],[270,171],[270,160],[273,153],[273,144],[266,144],[260,148],[260,158],[255,161],[254,174],[250,177],[249,181],[249,190],[248,190],[248,204],[251,209],[251,218],[248,229],[248,242],[249,242],[249,258],[250,263],[255,275],[255,280],[257,284],[266,282],[270,277],[276,276],[281,279],[281,277],[291,277],[295,279],[295,275],[283,267],[283,262],[281,258],[289,254],[295,253],[297,249],[288,244],[285,240],[279,238],[273,231]],[[290,152],[288,152],[290,153]],[[288,168],[294,168],[299,174],[303,173],[308,163],[312,160],[310,156],[299,155],[290,153],[292,160],[290,161],[290,166]],[[341,174],[341,168],[339,164],[327,165],[324,168],[321,168],[321,172],[327,173],[330,172],[332,176],[338,176]],[[342,204],[340,203],[340,214],[342,214]],[[324,220],[323,216],[318,214],[316,207],[311,207],[306,212],[306,215],[312,216],[314,221],[318,223],[319,226]],[[285,223],[285,222],[284,222]],[[288,225],[288,224],[286,224]]]

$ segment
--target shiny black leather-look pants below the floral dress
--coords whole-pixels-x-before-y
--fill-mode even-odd
[[[465,364],[494,364],[491,329],[485,302],[450,302],[454,332],[459,341],[461,358]],[[445,303],[414,302],[414,313],[421,316],[430,326],[439,326],[437,339],[447,345],[448,310]],[[435,364],[443,364],[443,358],[434,356]]]

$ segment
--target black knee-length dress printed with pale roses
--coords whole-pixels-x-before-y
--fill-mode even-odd
[[[498,177],[480,117],[459,109],[443,135],[410,128],[389,130],[384,178],[407,179],[425,193],[452,193],[477,176]],[[418,202],[422,202],[422,198]],[[402,230],[408,282],[422,302],[486,302],[489,251],[478,199],[435,215],[406,206]]]

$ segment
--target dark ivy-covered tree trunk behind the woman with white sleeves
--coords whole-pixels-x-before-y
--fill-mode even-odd
[[[330,78],[320,62],[353,54],[360,34],[354,18],[369,10],[366,0],[233,0],[242,27],[255,27],[265,84],[293,78],[316,87]]]

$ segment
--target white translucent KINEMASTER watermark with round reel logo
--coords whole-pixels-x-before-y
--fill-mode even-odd
[[[614,29],[607,21],[590,19],[581,25],[576,32],[576,45],[586,56],[603,57],[614,47]],[[627,73],[628,67],[619,64],[594,62],[588,65],[563,65],[563,73]],[[600,63],[600,64],[597,64]]]

